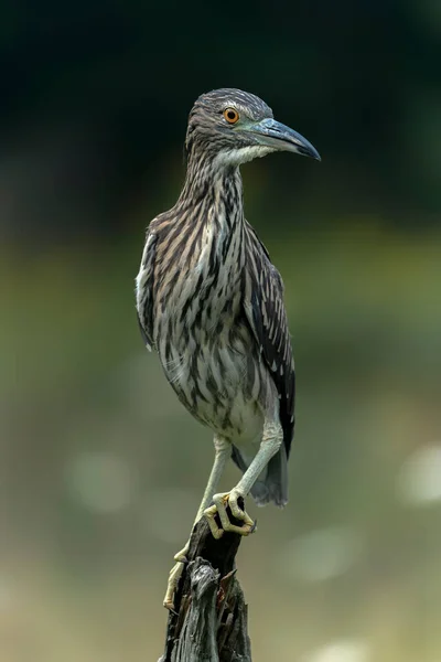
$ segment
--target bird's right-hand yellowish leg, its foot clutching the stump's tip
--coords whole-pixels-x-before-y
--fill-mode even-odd
[[[230,492],[224,492],[213,496],[214,505],[207,508],[204,514],[215,538],[219,538],[224,531],[239,533],[240,535],[248,535],[255,530],[255,523],[248,513],[239,506],[238,500],[240,498],[245,499],[245,496],[247,496],[247,494],[250,492],[252,485],[263,471],[265,467],[279,450],[283,434],[280,424],[275,423],[273,419],[266,419],[260,448],[252,462],[241,477],[241,480]],[[229,505],[234,517],[244,522],[243,526],[232,524],[227,514],[227,505]],[[216,524],[216,513],[219,516],[222,528],[219,528]]]

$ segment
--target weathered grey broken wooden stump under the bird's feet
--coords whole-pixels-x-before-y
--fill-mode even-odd
[[[196,524],[159,662],[251,662],[247,606],[235,568],[240,540],[224,533],[216,541],[205,517]]]

